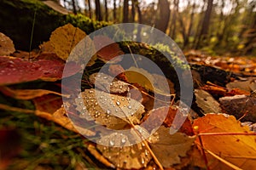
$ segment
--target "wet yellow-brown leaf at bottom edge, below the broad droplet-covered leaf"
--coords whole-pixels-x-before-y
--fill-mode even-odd
[[[131,129],[132,130],[132,129]],[[151,160],[151,155],[145,147],[145,144],[131,144],[129,138],[139,138],[135,136],[125,136],[122,133],[111,133],[103,136],[97,144],[97,149],[102,152],[109,161],[113,162],[115,167],[125,168],[125,169],[139,169],[146,167],[148,161]],[[108,142],[109,145],[115,145],[119,147],[106,147],[101,143]]]

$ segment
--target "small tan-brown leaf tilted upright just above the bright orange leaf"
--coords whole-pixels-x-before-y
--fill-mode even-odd
[[[218,102],[212,98],[211,94],[201,89],[195,89],[195,103],[204,113],[221,113]]]

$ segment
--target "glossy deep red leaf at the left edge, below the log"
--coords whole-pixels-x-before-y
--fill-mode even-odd
[[[76,74],[80,67],[69,63],[69,72],[66,77]],[[44,80],[55,82],[62,78],[64,63],[59,60],[39,59],[25,60],[12,57],[0,57],[0,85],[9,85],[20,82]]]

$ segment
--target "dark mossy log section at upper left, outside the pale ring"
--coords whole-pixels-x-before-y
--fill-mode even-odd
[[[35,17],[35,20],[34,20]],[[34,21],[34,31],[32,26]],[[49,40],[50,33],[67,23],[79,26],[89,34],[107,22],[90,20],[82,14],[61,14],[38,0],[1,0],[0,32],[10,37],[15,48],[28,51],[32,37],[32,48]]]

